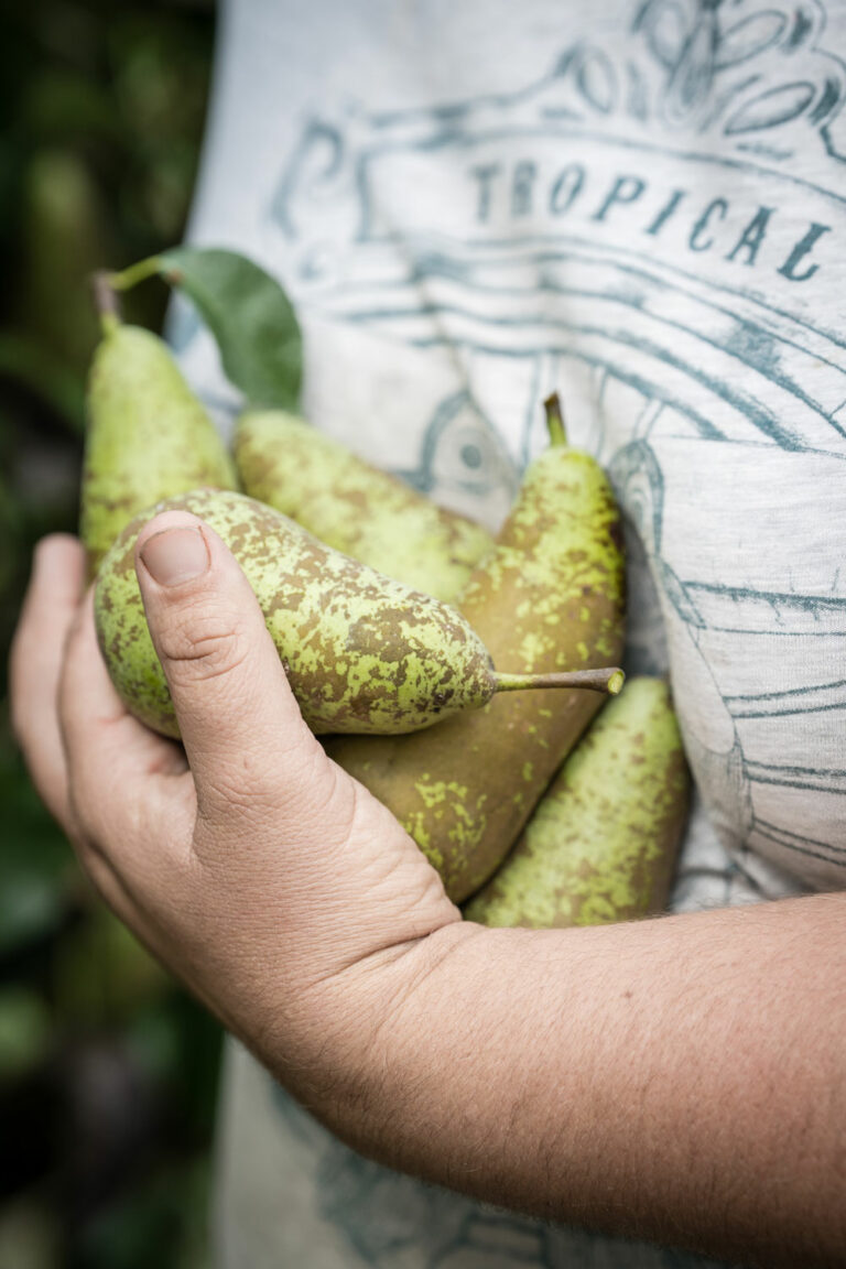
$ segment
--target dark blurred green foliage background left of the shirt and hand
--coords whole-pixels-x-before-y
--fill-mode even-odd
[[[208,1265],[219,1030],[41,807],[6,661],[33,543],[76,530],[88,275],[181,240],[213,39],[211,0],[0,19],[0,1269]],[[127,316],[160,330],[166,298],[147,283]]]

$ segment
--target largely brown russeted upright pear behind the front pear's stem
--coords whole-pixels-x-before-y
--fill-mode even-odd
[[[596,669],[619,661],[624,588],[610,485],[589,454],[553,445],[526,471],[459,610],[504,671]],[[326,747],[393,811],[460,902],[498,868],[602,700],[521,692],[417,736]]]

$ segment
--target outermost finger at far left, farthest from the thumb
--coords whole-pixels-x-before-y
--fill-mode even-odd
[[[76,538],[52,534],[38,543],[9,659],[11,726],[38,793],[66,831],[67,770],[57,690],[84,576],[85,552]]]

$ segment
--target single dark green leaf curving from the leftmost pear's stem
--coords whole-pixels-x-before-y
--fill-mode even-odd
[[[197,306],[214,335],[223,371],[254,407],[297,410],[302,335],[275,278],[236,251],[176,247],[159,270]]]

